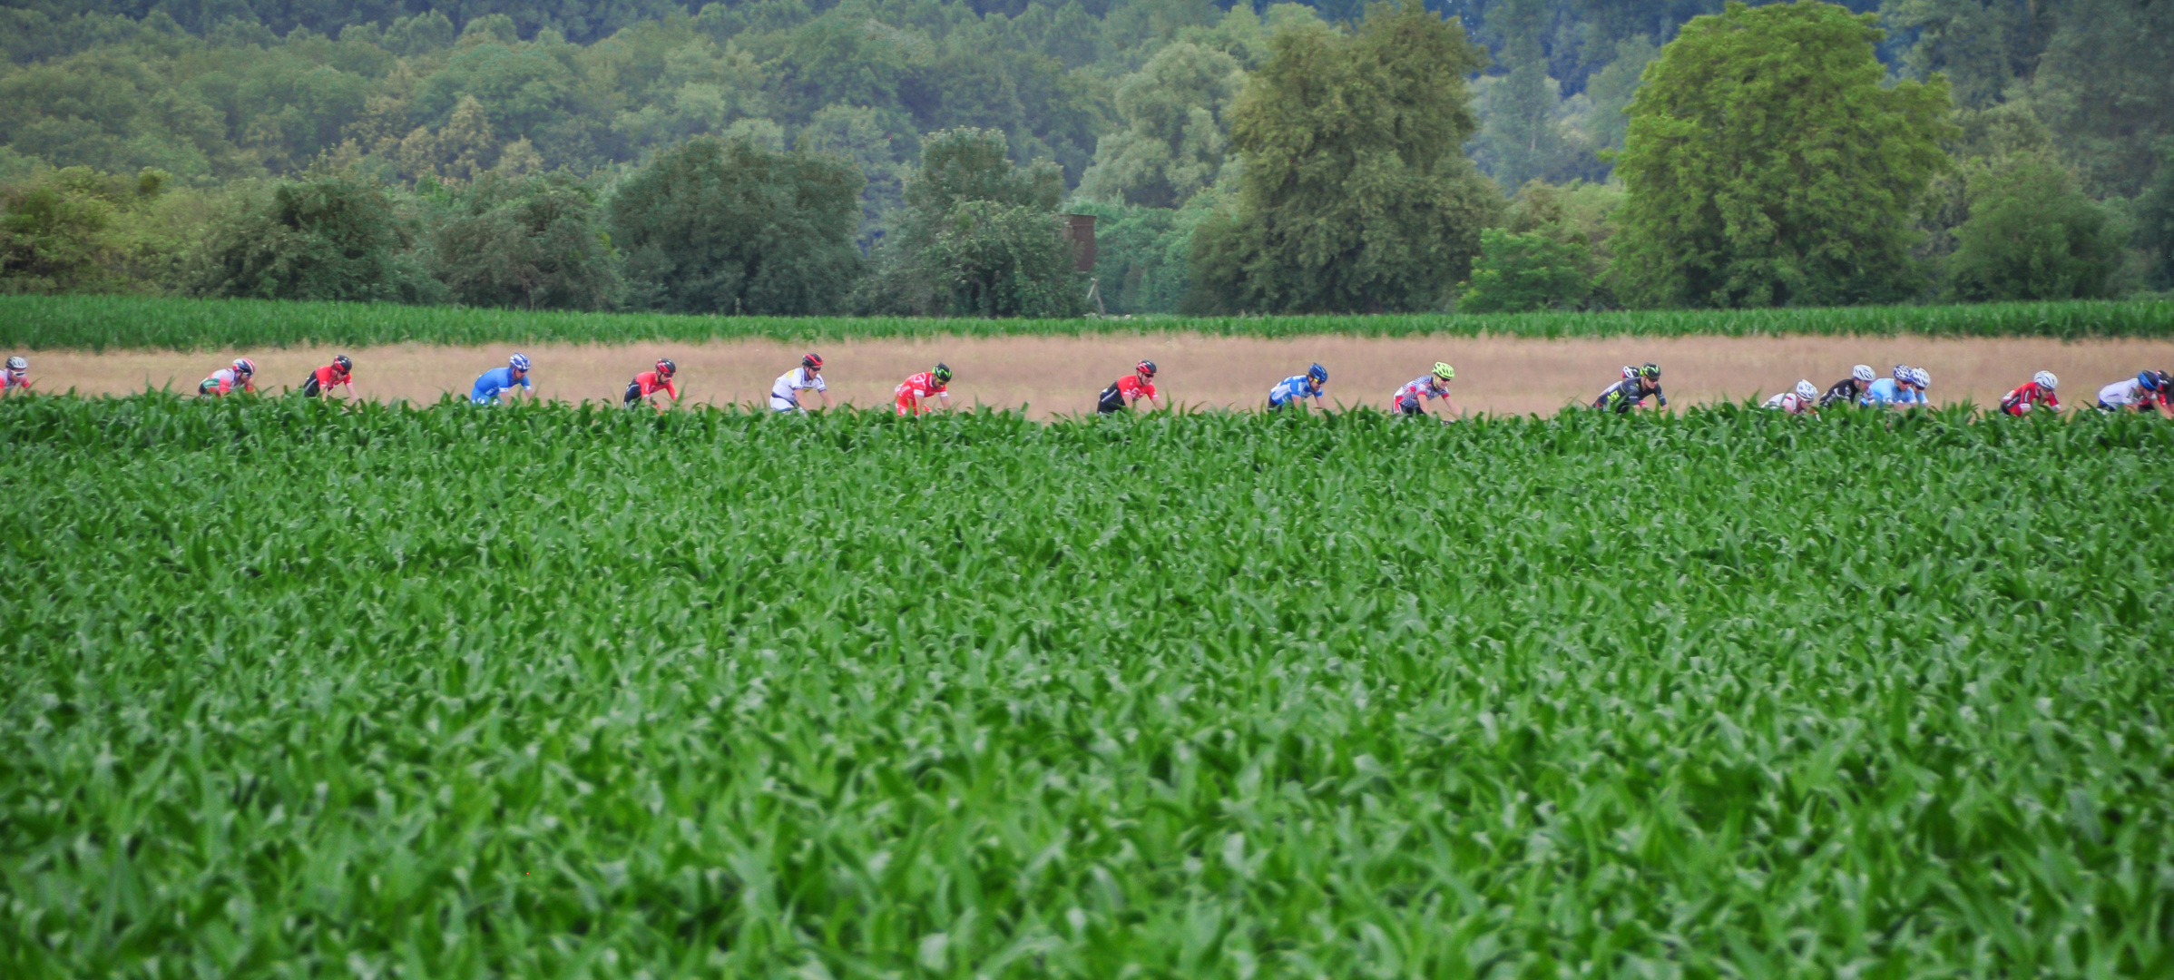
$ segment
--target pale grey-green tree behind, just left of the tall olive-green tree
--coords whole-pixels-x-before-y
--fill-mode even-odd
[[[1159,50],[1117,85],[1124,128],[1102,137],[1080,176],[1080,198],[1176,209],[1224,183],[1230,154],[1228,113],[1246,83],[1237,59],[1194,43]]]

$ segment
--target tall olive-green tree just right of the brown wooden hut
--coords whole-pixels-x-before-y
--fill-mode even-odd
[[[1194,233],[1217,311],[1424,311],[1470,272],[1500,196],[1463,156],[1485,54],[1420,4],[1352,35],[1298,26],[1233,109],[1246,178]]]

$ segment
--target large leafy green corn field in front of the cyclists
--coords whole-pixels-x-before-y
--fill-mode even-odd
[[[9,978],[2174,976],[2163,419],[39,395],[0,461]]]

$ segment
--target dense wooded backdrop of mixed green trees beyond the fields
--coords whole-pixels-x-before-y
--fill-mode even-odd
[[[2174,289],[2167,0],[4,0],[0,48],[0,291],[1115,315]],[[1091,274],[1065,213],[1098,217]]]

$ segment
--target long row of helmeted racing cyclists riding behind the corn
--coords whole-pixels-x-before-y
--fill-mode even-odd
[[[800,365],[780,374],[776,382],[770,385],[770,409],[778,413],[807,411],[809,398],[817,398],[822,409],[830,406],[830,389],[822,376],[822,354],[804,354]],[[30,363],[22,356],[7,359],[7,369],[0,372],[0,395],[13,391],[26,391],[30,387]],[[476,404],[496,404],[507,398],[535,398],[535,385],[528,380],[530,363],[526,354],[513,354],[507,359],[504,367],[493,367],[483,372],[474,387],[470,389],[470,400]],[[1096,395],[1098,413],[1122,413],[1133,411],[1141,402],[1150,411],[1163,409],[1161,393],[1154,389],[1154,361],[1139,361],[1133,365],[1133,374],[1113,380],[1109,387]],[[657,411],[667,411],[678,402],[680,389],[674,382],[678,365],[672,359],[657,359],[652,369],[635,374],[626,382],[622,404],[628,409],[652,406]],[[1400,385],[1391,395],[1389,404],[1396,415],[1420,417],[1430,411],[1441,419],[1450,422],[1463,415],[1457,402],[1450,400],[1450,382],[1457,380],[1457,369],[1444,361],[1435,367],[1404,385]],[[950,365],[937,363],[935,367],[913,374],[902,380],[891,391],[891,404],[898,415],[926,415],[933,411],[950,409]],[[1322,365],[1309,365],[1304,372],[1278,380],[1267,389],[1270,411],[1283,411],[1294,404],[1311,402],[1313,409],[1328,409],[1326,402],[1328,369]],[[1781,391],[1765,400],[1765,409],[1774,409],[1787,415],[1807,415],[1820,409],[1859,404],[1859,406],[1887,406],[1887,409],[1909,409],[1931,404],[1926,391],[1933,387],[1933,376],[1924,367],[1894,365],[1894,372],[1885,378],[1872,372],[1872,365],[1857,365],[1850,369],[1848,378],[1837,380],[1824,393],[1807,378],[1798,380],[1794,389]],[[2028,382],[2015,387],[2000,398],[2000,411],[2007,415],[2028,415],[2033,411],[2061,411],[2059,398],[2061,380],[2052,372],[2037,372]],[[335,389],[346,389],[348,398],[354,398],[354,361],[346,354],[333,356],[324,367],[313,369],[302,378],[300,393],[304,398],[328,398]],[[235,391],[257,391],[257,363],[237,356],[226,367],[213,372],[209,378],[198,382],[198,395],[228,395]],[[1624,365],[1622,378],[1600,391],[1591,406],[1598,411],[1630,413],[1644,409],[1646,400],[1654,400],[1657,406],[1667,406],[1667,395],[1661,393],[1661,367],[1646,363],[1639,367]],[[1433,406],[1433,402],[1441,402]],[[2102,411],[2157,411],[2163,417],[2174,419],[2174,374],[2170,372],[2139,372],[2135,378],[2122,378],[2113,385],[2098,389],[2096,409]]]

